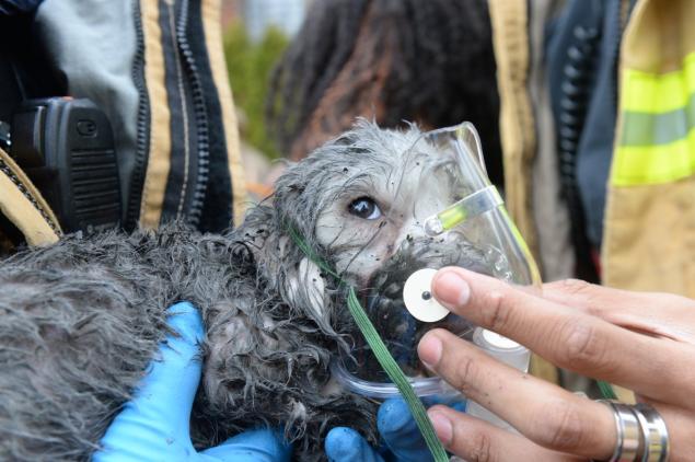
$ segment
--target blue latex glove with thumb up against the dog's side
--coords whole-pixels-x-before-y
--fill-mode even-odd
[[[190,442],[190,408],[202,365],[198,343],[204,338],[198,311],[188,302],[169,309],[169,325],[179,337],[160,345],[161,360],[152,361],[131,402],[126,403],[102,439],[96,462],[266,462],[289,461],[291,448],[281,435],[254,430],[196,452]]]

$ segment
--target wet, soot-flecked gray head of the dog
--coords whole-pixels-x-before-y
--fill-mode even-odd
[[[421,135],[360,120],[278,180],[274,216],[286,235],[270,251],[285,258],[274,272],[287,275],[286,298],[316,314],[326,309],[322,272],[296,249],[289,227],[358,290],[396,293],[421,267],[486,270],[483,252],[463,233],[425,232],[427,218],[471,190],[461,187],[455,159],[442,158]]]

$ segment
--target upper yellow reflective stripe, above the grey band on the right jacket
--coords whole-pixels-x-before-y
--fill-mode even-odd
[[[665,113],[687,105],[695,93],[695,53],[683,59],[683,68],[652,73],[623,69],[621,111]]]

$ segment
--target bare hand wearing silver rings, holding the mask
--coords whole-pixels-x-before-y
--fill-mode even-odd
[[[671,461],[695,454],[695,301],[567,280],[533,294],[461,268],[444,268],[435,297],[456,314],[510,337],[553,363],[634,390],[665,420]],[[512,435],[445,406],[429,416],[445,447],[467,461],[610,459],[610,408],[577,396],[435,330],[420,359],[505,420]]]

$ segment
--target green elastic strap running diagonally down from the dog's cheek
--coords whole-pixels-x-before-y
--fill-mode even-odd
[[[348,286],[340,276],[328,266],[326,262],[324,262],[316,253],[311,249],[306,242],[302,239],[302,236],[297,232],[293,227],[288,227],[289,234],[294,241],[294,244],[306,255],[309,259],[314,262],[318,267],[325,273],[335,277],[340,286],[348,287],[348,297],[347,297],[347,305],[355,320],[355,323],[359,327],[362,336],[369,344],[372,353],[377,357],[377,360],[386,372],[389,378],[393,383],[395,383],[396,388],[403,395],[408,408],[410,409],[410,414],[415,418],[415,423],[427,443],[432,457],[436,462],[447,462],[449,461],[449,455],[447,455],[447,451],[442,446],[439,438],[437,438],[437,434],[435,432],[435,428],[432,427],[432,423],[427,417],[427,412],[425,411],[425,406],[422,402],[417,397],[410,382],[405,377],[405,373],[401,370],[396,361],[389,353],[389,348],[384,345],[383,340],[379,336],[379,333],[374,328],[373,324],[369,320],[369,316],[364,312],[364,309],[360,304],[357,299],[357,293],[355,292],[355,288]]]

